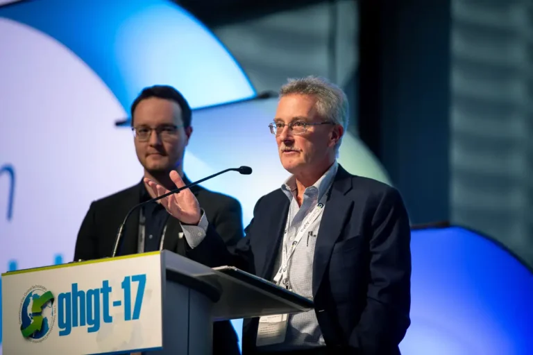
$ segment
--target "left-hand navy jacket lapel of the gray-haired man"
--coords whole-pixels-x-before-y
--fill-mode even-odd
[[[280,243],[285,230],[285,224],[287,223],[287,214],[289,213],[289,199],[284,193],[280,193],[278,201],[269,206],[271,216],[266,219],[268,225],[263,225],[260,228],[264,228],[265,232],[260,234],[264,235],[265,239],[262,241],[260,249],[265,250],[264,263],[260,263],[263,266],[262,270],[257,270],[257,276],[263,279],[270,280],[272,278],[272,268],[278,251],[280,250]],[[280,215],[281,211],[281,215]],[[281,216],[281,218],[279,218]]]

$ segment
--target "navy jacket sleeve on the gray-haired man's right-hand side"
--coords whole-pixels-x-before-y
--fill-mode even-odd
[[[400,193],[389,188],[372,220],[366,307],[350,334],[357,354],[389,354],[410,324],[411,229]]]

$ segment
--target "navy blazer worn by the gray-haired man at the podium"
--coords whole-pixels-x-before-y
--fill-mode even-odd
[[[263,196],[235,252],[212,257],[272,279],[288,209],[280,189]],[[312,279],[316,317],[332,354],[400,354],[410,324],[410,239],[400,193],[339,166],[316,239]],[[222,245],[209,228],[192,252]],[[257,318],[245,321],[244,355],[255,352],[257,324]]]

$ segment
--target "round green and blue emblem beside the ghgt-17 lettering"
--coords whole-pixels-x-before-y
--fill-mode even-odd
[[[19,324],[22,336],[32,343],[46,340],[56,323],[56,313],[53,293],[44,286],[32,286],[20,301]]]

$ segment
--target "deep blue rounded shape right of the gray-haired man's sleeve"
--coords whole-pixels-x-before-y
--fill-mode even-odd
[[[404,354],[530,354],[533,272],[525,263],[463,227],[413,230],[411,245]]]

